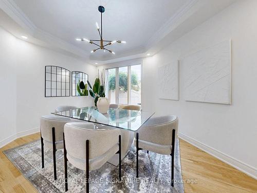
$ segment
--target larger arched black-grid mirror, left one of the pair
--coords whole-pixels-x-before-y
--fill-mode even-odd
[[[45,97],[70,96],[70,71],[59,66],[45,66]]]

